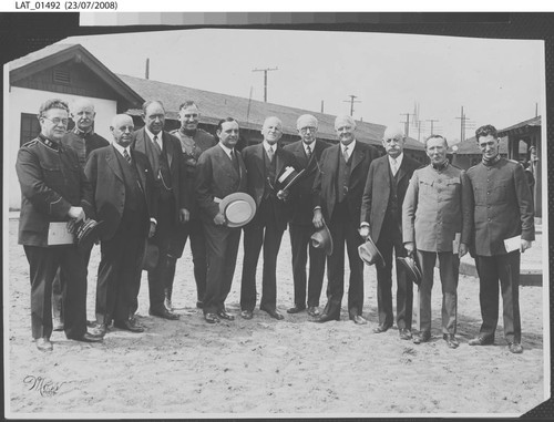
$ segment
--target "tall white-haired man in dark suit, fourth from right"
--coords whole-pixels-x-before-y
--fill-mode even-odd
[[[346,243],[350,263],[348,313],[356,323],[366,323],[361,316],[363,263],[358,255],[358,246],[362,243],[358,222],[369,165],[379,154],[372,146],[356,140],[356,122],[351,116],[338,116],[335,130],[340,143],[324,151],[320,171],[314,182],[314,225],[321,228],[327,222],[334,243],[332,254],[327,258],[327,305],[317,321],[340,319]]]

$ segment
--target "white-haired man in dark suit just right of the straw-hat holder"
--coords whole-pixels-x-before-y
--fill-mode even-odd
[[[256,267],[259,251],[264,247],[264,271],[261,276],[261,300],[259,309],[271,318],[283,319],[277,311],[277,255],[283,233],[290,218],[288,193],[277,186],[278,176],[287,166],[296,167],[289,151],[278,147],[283,136],[283,123],[277,117],[267,117],[261,127],[264,141],[243,150],[248,176],[248,194],[256,200],[256,215],[244,227],[244,260],[240,286],[242,317],[252,319],[256,307]]]

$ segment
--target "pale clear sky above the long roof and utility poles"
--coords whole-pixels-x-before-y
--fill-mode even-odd
[[[287,30],[201,29],[72,37],[115,73],[264,100],[366,122],[402,125],[455,143],[483,124],[506,127],[544,109],[542,41]],[[201,104],[202,107],[202,104]]]

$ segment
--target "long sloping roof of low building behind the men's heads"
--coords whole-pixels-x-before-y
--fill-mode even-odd
[[[232,116],[240,123],[240,127],[259,131],[264,124],[264,120],[267,116],[275,115],[283,121],[284,133],[297,135],[296,120],[298,116],[301,114],[312,114],[319,122],[318,136],[336,140],[335,115],[123,74],[119,76],[143,97],[162,101],[165,105],[167,117],[172,120],[178,119],[178,106],[183,101],[192,100],[201,106],[201,121],[203,123],[217,124],[220,119]],[[138,110],[130,111],[130,114],[134,115],[140,113],[141,111]],[[381,138],[386,128],[383,125],[359,121],[356,123],[360,141],[381,145]],[[423,151],[423,145],[413,138],[407,138],[406,147]]]

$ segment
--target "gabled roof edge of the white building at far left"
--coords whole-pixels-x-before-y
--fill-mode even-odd
[[[10,84],[66,61],[75,61],[86,65],[130,104],[140,105],[144,102],[141,95],[133,91],[81,44],[52,44],[29,53],[23,58],[13,60],[9,63]]]

